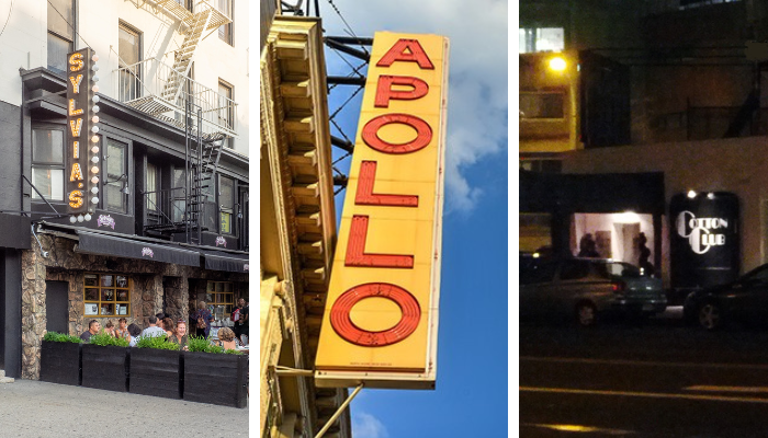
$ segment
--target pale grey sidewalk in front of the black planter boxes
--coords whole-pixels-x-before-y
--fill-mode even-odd
[[[248,437],[248,412],[36,380],[0,384],[0,437]]]

